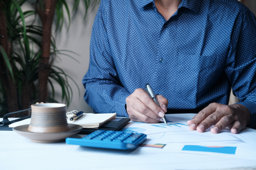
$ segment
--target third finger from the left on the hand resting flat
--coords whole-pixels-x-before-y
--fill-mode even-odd
[[[219,133],[220,131],[225,129],[228,125],[234,123],[234,121],[235,121],[235,119],[234,119],[234,116],[232,116],[232,115],[227,115],[227,116],[221,117],[220,121],[218,121],[218,123],[215,124],[215,126],[213,126],[211,128],[211,132]]]

